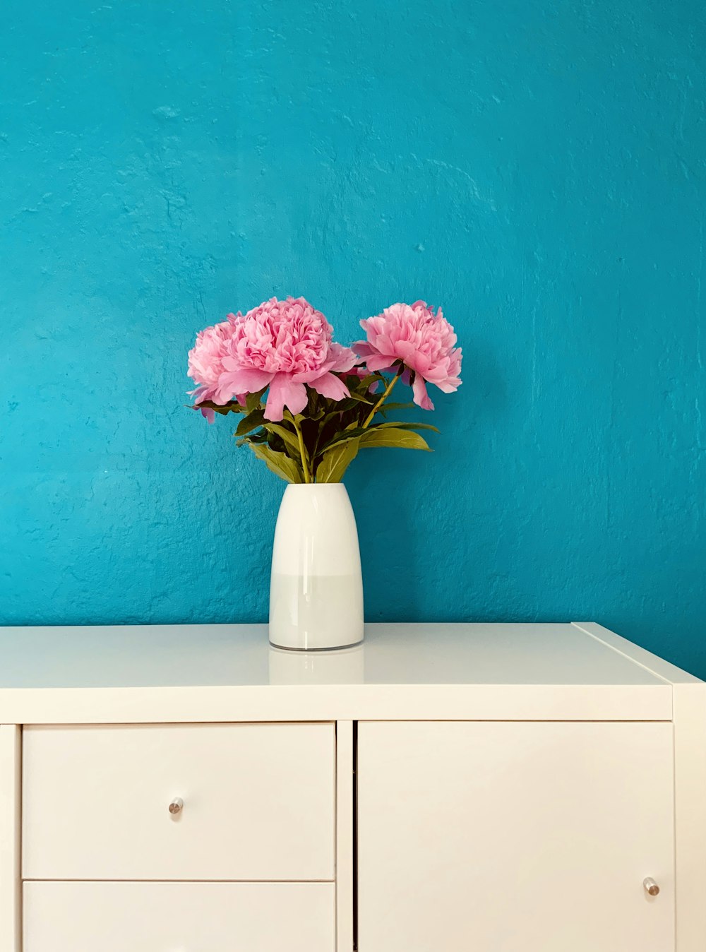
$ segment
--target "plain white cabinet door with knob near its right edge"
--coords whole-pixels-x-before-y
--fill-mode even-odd
[[[674,950],[673,784],[672,724],[360,724],[360,952]]]

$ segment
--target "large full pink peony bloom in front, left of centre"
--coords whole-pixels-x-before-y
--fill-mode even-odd
[[[245,316],[228,314],[228,322],[223,356],[219,353],[218,358],[223,364],[218,403],[269,387],[265,418],[275,421],[282,420],[284,407],[293,414],[302,412],[308,400],[305,384],[332,400],[350,395],[335,373],[353,367],[356,355],[333,343],[328,321],[304,298],[270,298]]]

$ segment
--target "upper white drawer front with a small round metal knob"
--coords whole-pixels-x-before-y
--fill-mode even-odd
[[[334,748],[333,724],[27,727],[23,878],[333,880]]]

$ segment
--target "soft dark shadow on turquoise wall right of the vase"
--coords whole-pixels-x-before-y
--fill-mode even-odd
[[[468,587],[471,566],[482,561],[476,557],[473,533],[473,486],[484,482],[477,468],[478,446],[495,439],[508,400],[494,349],[472,340],[462,344],[459,393],[446,395],[429,387],[436,410],[422,420],[441,430],[429,436],[433,456],[362,450],[346,475],[365,592],[377,595],[366,602],[368,622],[423,619],[430,602],[442,603],[441,610],[432,609],[435,618],[464,620],[459,595]],[[400,413],[401,418],[415,415],[420,419],[419,410]],[[426,590],[430,583],[434,592]]]

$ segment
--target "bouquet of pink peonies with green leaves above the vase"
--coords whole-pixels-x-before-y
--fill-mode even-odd
[[[435,314],[423,301],[385,307],[361,326],[365,341],[335,344],[324,314],[304,298],[228,314],[189,350],[193,409],[209,423],[216,413],[240,413],[238,445],[288,483],[340,483],[366,447],[428,450],[415,431],[435,426],[386,415],[414,404],[434,409],[427,383],[444,393],[461,385],[454,328],[441,307]],[[414,404],[387,402],[400,380]]]

